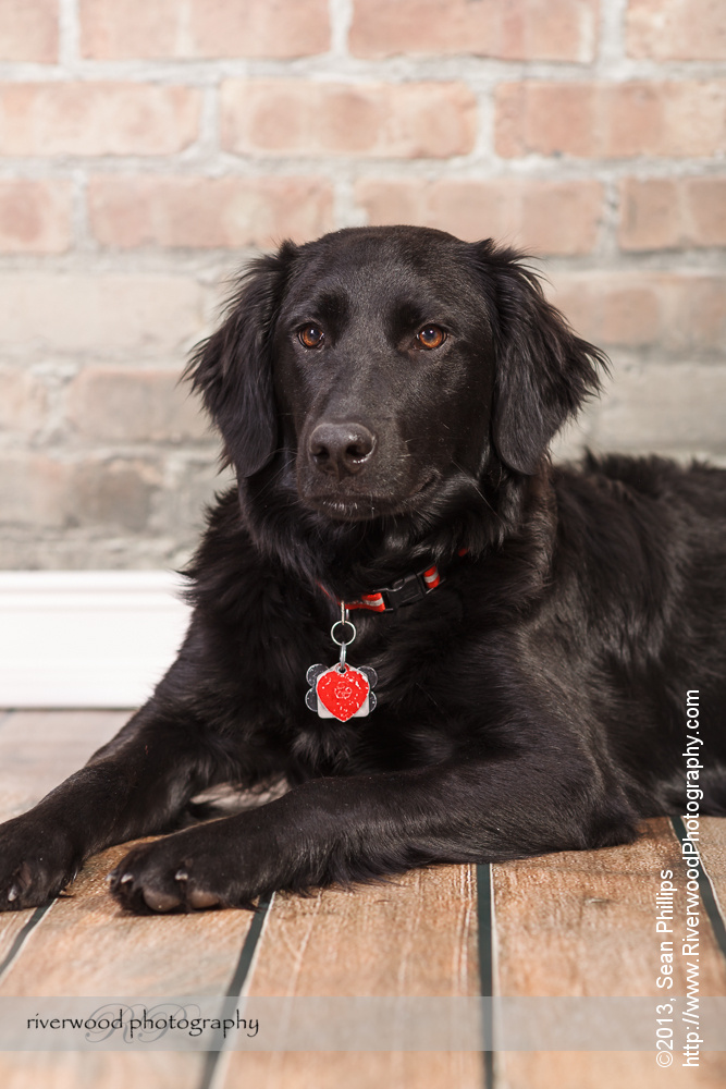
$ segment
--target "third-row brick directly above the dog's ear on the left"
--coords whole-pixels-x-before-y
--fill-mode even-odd
[[[107,246],[269,248],[333,228],[333,192],[315,178],[104,174],[88,186],[94,235]]]

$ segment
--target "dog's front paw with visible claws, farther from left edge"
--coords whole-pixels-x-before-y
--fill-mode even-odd
[[[226,845],[210,835],[220,823],[212,821],[211,828],[187,829],[134,847],[109,873],[112,895],[138,915],[251,908],[250,897],[241,894],[239,853],[226,858]]]

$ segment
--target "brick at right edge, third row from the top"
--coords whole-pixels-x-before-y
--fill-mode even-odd
[[[620,184],[623,249],[726,245],[726,178],[626,178]]]

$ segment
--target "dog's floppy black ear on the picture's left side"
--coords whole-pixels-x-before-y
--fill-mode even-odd
[[[292,242],[258,257],[226,307],[226,320],[195,350],[184,377],[201,394],[241,477],[267,465],[278,445],[270,345],[282,294],[297,255]]]

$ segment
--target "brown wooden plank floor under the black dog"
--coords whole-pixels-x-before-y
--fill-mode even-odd
[[[0,818],[32,805],[124,719],[108,711],[0,712]],[[723,908],[726,821],[703,825],[702,857]],[[72,897],[56,902],[32,928],[33,911],[0,916],[0,996],[226,993],[254,917],[125,916],[104,883],[124,849],[91,859],[69,890]],[[494,993],[662,1000],[654,919],[666,868],[676,883],[682,878],[679,843],[666,820],[650,822],[644,837],[627,847],[492,867]],[[259,996],[477,995],[478,926],[489,910],[480,906],[468,866],[310,898],[278,895],[244,989]],[[489,932],[481,944],[485,962]],[[684,993],[680,957],[675,979],[675,991]],[[701,994],[726,995],[726,960],[705,914]],[[684,1069],[676,1055],[663,1069],[652,1052],[502,1052],[493,1070],[478,1052],[0,1055],[3,1089],[122,1089],[134,1079],[145,1089],[484,1089],[487,1081],[488,1089],[716,1089],[726,1085],[726,1054],[703,1053],[698,1069]]]

